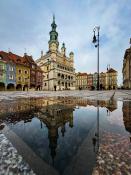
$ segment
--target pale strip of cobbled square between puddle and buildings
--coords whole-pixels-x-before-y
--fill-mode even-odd
[[[114,94],[115,92],[115,94]],[[74,90],[74,91],[1,91],[0,101],[13,100],[16,98],[28,97],[83,97],[95,100],[109,100],[114,94],[115,99],[131,99],[131,90],[110,90],[110,91],[89,91],[89,90]]]

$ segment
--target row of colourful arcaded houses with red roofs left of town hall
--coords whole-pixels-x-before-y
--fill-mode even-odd
[[[0,90],[42,90],[43,71],[32,56],[0,51]]]

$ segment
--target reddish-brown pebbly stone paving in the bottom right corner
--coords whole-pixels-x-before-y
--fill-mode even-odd
[[[130,175],[131,144],[128,137],[103,132],[93,175]]]

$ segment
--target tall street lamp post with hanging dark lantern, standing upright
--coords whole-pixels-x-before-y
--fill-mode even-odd
[[[97,38],[95,35],[96,31],[97,31]],[[99,90],[99,31],[100,31],[100,26],[96,26],[93,29],[94,36],[92,41],[95,44],[95,47],[97,47],[97,90]]]

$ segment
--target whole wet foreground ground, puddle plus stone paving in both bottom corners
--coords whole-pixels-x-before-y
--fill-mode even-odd
[[[113,94],[2,101],[1,172],[16,160],[12,174],[131,174],[131,101]]]

